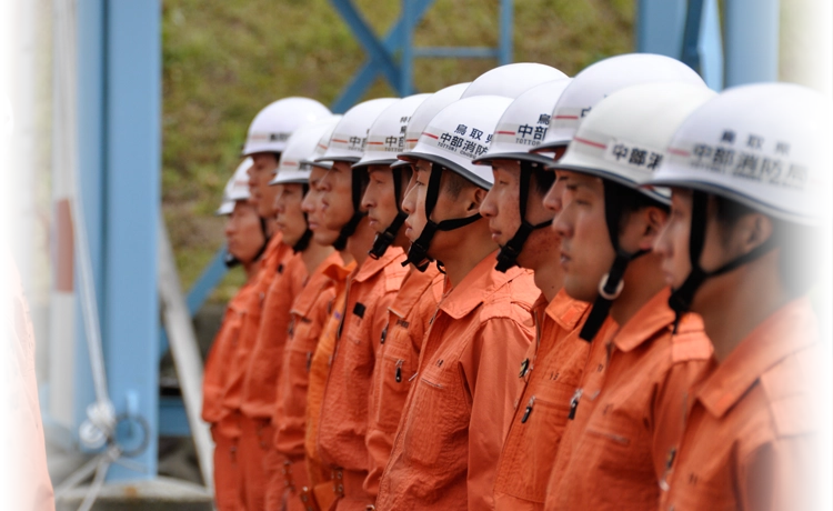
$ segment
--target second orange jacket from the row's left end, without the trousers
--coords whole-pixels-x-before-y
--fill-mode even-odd
[[[263,310],[263,301],[267,291],[272,284],[272,280],[278,275],[278,264],[290,251],[290,248],[283,244],[283,237],[277,233],[269,241],[265,252],[261,259],[261,265],[254,274],[252,293],[248,303],[243,307],[245,315],[240,325],[240,335],[238,347],[234,350],[234,358],[229,364],[229,375],[223,390],[222,405],[229,413],[240,411],[243,399],[243,381],[245,372],[249,370],[254,342],[258,340],[258,330],[260,330],[260,318]]]

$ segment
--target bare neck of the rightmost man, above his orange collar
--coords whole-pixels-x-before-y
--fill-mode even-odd
[[[732,292],[714,292],[714,299],[696,303],[717,362],[723,362],[753,330],[792,300],[774,271],[776,267],[757,271],[762,267],[757,262],[715,278],[723,280],[721,289]],[[704,285],[707,284],[709,281]]]

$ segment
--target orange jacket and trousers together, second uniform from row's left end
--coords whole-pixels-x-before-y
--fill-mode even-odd
[[[223,391],[222,405],[227,410],[227,417],[223,419],[221,428],[223,430],[240,430],[237,451],[241,474],[240,492],[245,508],[250,510],[263,509],[265,473],[262,469],[262,458],[258,458],[258,452],[263,450],[261,444],[268,447],[269,443],[263,437],[264,432],[261,424],[248,420],[240,411],[243,382],[258,339],[265,294],[272,280],[278,275],[279,264],[289,252],[290,248],[282,243],[280,233],[270,239],[261,267],[252,281],[254,289],[248,303],[244,304],[245,315],[240,327],[238,345],[229,367],[229,375]]]

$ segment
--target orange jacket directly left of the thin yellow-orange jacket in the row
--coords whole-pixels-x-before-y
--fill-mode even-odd
[[[292,318],[278,377],[274,413],[274,449],[292,460],[303,458],[307,430],[307,389],[319,337],[335,298],[332,279],[324,273],[342,265],[341,255],[331,253],[310,275],[307,287],[292,303]]]

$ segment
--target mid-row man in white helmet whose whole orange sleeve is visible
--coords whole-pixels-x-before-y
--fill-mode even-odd
[[[382,475],[380,510],[493,505],[494,468],[519,390],[512,373],[534,337],[536,290],[526,270],[494,270],[498,246],[478,212],[492,176],[471,160],[485,152],[511,102],[455,101],[399,157],[416,170],[403,202],[409,261],[422,269],[435,260],[446,281]]]

